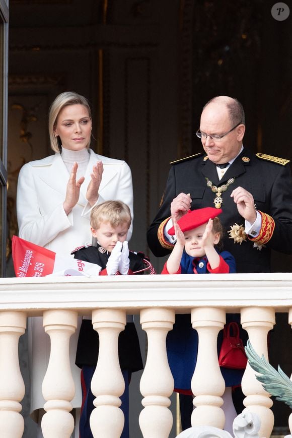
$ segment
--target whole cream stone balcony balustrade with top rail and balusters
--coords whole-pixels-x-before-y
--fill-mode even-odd
[[[176,313],[189,312],[199,336],[192,379],[193,426],[224,427],[225,385],[217,361],[216,337],[225,324],[226,312],[241,313],[242,325],[253,347],[266,357],[267,334],[275,324],[275,312],[289,312],[292,324],[292,274],[288,273],[8,278],[0,279],[0,293],[1,438],[20,438],[24,431],[20,402],[25,388],[19,368],[18,340],[26,329],[27,317],[43,315],[44,330],[51,340],[42,385],[46,400],[44,438],[69,438],[74,428],[70,401],[75,388],[69,340],[76,331],[78,315],[92,314],[94,329],[100,336],[99,361],[92,381],[96,398],[91,428],[95,438],[118,438],[123,428],[119,397],[124,382],[117,345],[126,314],[140,314],[141,327],[148,339],[148,356],[140,380],[143,409],[139,424],[144,438],[168,438],[172,427],[169,406],[174,383],[167,362],[166,336],[172,330]],[[259,436],[268,438],[274,423],[272,401],[249,365],[242,389],[246,396],[245,411],[260,417]]]

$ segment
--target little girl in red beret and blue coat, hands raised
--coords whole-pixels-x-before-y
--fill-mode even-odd
[[[220,252],[223,227],[218,219],[221,209],[206,207],[189,210],[178,222],[173,218],[169,234],[176,234],[176,244],[162,274],[228,274],[236,272],[234,257],[228,251]],[[227,315],[227,320],[236,319]],[[239,321],[238,321],[239,322]],[[190,427],[192,400],[182,395],[192,395],[191,379],[194,373],[198,335],[192,329],[190,315],[176,315],[174,328],[167,336],[167,355],[174,377],[174,391],[180,393],[182,424]],[[218,345],[220,348],[220,344]],[[227,390],[223,396],[226,416],[225,430],[231,433],[237,413],[231,398],[231,387],[240,385],[243,370],[222,368]],[[185,408],[183,407],[185,406]],[[188,406],[188,407],[186,407]]]

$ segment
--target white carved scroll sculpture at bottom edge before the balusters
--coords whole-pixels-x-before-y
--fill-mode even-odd
[[[239,414],[233,422],[235,438],[259,438],[261,421],[253,412]],[[213,426],[194,426],[184,430],[177,438],[232,438],[226,430]]]

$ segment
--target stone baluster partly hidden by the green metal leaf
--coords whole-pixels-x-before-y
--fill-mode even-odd
[[[272,308],[264,307],[245,307],[241,309],[241,324],[247,331],[249,340],[255,351],[268,360],[267,335],[275,324],[275,312]],[[255,378],[255,371],[249,363],[242,378],[242,391],[246,398],[243,412],[250,411],[256,413],[261,419],[259,436],[270,436],[274,415],[270,410],[273,402],[270,395],[264,390],[261,383]]]

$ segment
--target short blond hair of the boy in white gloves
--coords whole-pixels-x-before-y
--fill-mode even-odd
[[[97,230],[102,222],[109,222],[112,227],[127,223],[131,225],[131,212],[122,201],[105,201],[92,209],[90,225]]]

